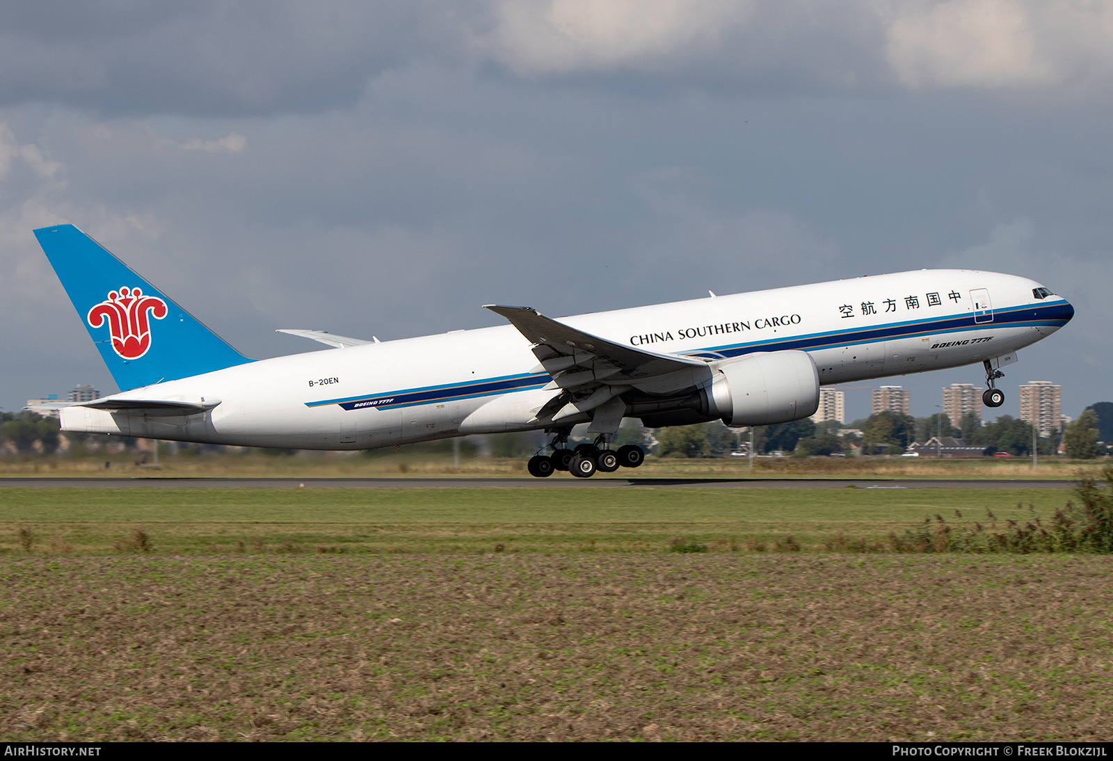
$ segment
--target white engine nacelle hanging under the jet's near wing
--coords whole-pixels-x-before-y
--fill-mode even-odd
[[[749,354],[712,367],[715,379],[701,403],[727,425],[790,423],[819,408],[819,373],[807,352]]]

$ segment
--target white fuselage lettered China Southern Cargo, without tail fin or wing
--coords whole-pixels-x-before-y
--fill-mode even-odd
[[[1057,330],[1073,309],[1027,278],[920,270],[560,318],[658,354],[708,359],[802,349],[821,384],[1002,357]],[[263,359],[114,398],[219,399],[205,413],[61,411],[67,431],[246,446],[367,449],[466,433],[544,427],[555,394],[511,325]],[[484,405],[489,413],[472,418]],[[506,424],[490,423],[505,411]],[[499,413],[502,414],[502,413]],[[495,415],[498,417],[498,415]],[[474,424],[483,418],[482,426]],[[571,423],[585,422],[573,419]]]

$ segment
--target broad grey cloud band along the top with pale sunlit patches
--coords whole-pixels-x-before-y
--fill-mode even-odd
[[[423,63],[656,97],[1107,98],[1113,11],[1037,0],[9,3],[0,107],[244,117],[354,106]]]

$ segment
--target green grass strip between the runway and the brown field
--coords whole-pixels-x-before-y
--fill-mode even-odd
[[[0,488],[0,552],[106,554],[142,530],[159,554],[649,552],[881,544],[924,517],[1044,516],[1063,490]],[[962,514],[959,520],[958,514]],[[60,552],[65,551],[65,552]]]

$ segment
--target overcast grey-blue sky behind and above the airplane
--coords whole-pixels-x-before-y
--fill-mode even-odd
[[[0,4],[0,406],[116,387],[31,230],[255,357],[864,274],[1033,277],[1113,401],[1113,3]],[[892,381],[913,412],[978,367]],[[880,382],[877,382],[880,383]],[[851,392],[851,417],[868,414]]]

